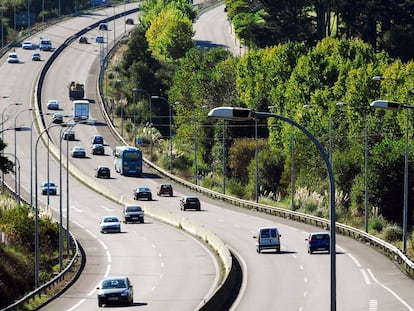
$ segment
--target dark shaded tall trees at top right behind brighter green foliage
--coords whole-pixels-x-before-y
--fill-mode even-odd
[[[323,38],[335,37],[360,38],[374,50],[386,50],[390,56],[403,60],[412,59],[414,52],[414,5],[410,0],[226,0],[225,3],[236,33],[251,47],[289,41],[312,46]],[[258,12],[262,18],[259,27],[254,17]]]

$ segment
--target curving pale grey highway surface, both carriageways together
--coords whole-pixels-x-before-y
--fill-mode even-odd
[[[109,10],[112,11],[113,8]],[[112,12],[103,12],[101,17],[109,14]],[[209,38],[207,34],[203,35],[203,31],[215,33],[212,28],[223,27],[226,22],[222,17],[225,16],[223,7],[218,7],[209,14],[209,19],[215,21],[209,29],[205,26],[197,28],[195,25],[199,41],[211,41],[203,40]],[[59,24],[48,30],[45,36],[52,37],[56,45],[59,40],[63,42],[71,32],[75,32],[75,29],[79,30],[81,25],[91,23],[94,17],[83,16],[69,20],[67,25]],[[122,26],[117,24],[115,28],[122,30]],[[88,37],[93,39],[97,33],[97,30],[92,29]],[[108,39],[112,37],[112,33],[109,34]],[[0,67],[3,85],[7,86],[3,90],[9,90],[8,94],[0,95],[10,96],[10,99],[2,101],[6,104],[24,103],[19,107],[7,108],[8,113],[5,115],[10,118],[4,124],[5,127],[13,121],[13,116],[18,111],[16,108],[21,111],[29,107],[33,92],[28,91],[33,91],[33,81],[41,66],[41,63],[30,62],[28,51],[19,49],[18,54],[24,64],[7,64],[2,59]],[[86,97],[95,99],[94,105],[98,105],[94,76],[99,70],[99,57],[100,47],[93,40],[90,45],[74,42],[48,73],[43,101],[59,99],[64,113],[71,114],[67,84],[71,80],[83,80],[86,82]],[[25,121],[30,122],[28,117],[29,112],[22,113],[18,125],[27,125]],[[93,110],[92,117],[104,122],[99,109]],[[130,197],[132,200],[134,187],[146,185],[155,193],[155,188],[162,179],[150,170],[145,171],[144,178],[126,178],[112,171],[114,178],[110,180],[94,179],[94,168],[98,164],[113,167],[110,154],[118,141],[102,123],[97,126],[77,125],[75,132],[79,139],[76,144],[85,147],[89,147],[89,138],[93,134],[102,134],[108,144],[107,156],[88,155],[87,159],[70,159],[71,164],[84,174],[80,180],[70,178],[70,219],[71,230],[88,254],[87,266],[75,285],[45,310],[97,308],[94,288],[108,269],[110,274],[128,274],[133,279],[136,285],[135,306],[147,310],[197,309],[203,297],[207,297],[218,282],[217,263],[210,252],[188,235],[153,219],[147,219],[145,225],[124,225],[125,233],[119,235],[101,235],[98,229],[99,217],[108,213],[120,216],[120,207],[84,187],[84,184],[98,184],[113,197],[120,200]],[[13,153],[13,133],[8,131],[4,134],[9,143],[7,152]],[[22,176],[30,174],[29,150],[25,148],[29,142],[27,134],[17,133]],[[51,135],[52,141],[58,144],[59,129],[53,129]],[[71,142],[70,146],[73,144]],[[39,167],[38,174],[40,183],[47,179],[45,164],[48,161],[43,145],[39,146],[39,158],[38,163],[42,164],[39,165],[41,168]],[[50,165],[51,179],[57,182],[59,166],[54,159],[51,159]],[[29,181],[27,178],[22,180],[22,187],[26,191],[29,191]],[[202,224],[220,236],[238,254],[244,269],[244,284],[234,310],[329,310],[329,255],[309,255],[305,247],[307,234],[320,229],[242,211],[204,197],[201,197],[201,212],[182,212],[178,209],[178,199],[188,192],[179,186],[175,186],[174,190],[173,198],[156,198],[141,204],[146,208],[162,209]],[[45,198],[41,197],[41,200],[42,206],[46,206]],[[58,206],[58,197],[51,197],[49,209],[56,214]],[[258,227],[271,225],[280,229],[282,252],[258,254],[252,237]],[[131,247],[132,244],[134,247]],[[339,235],[336,256],[338,310],[414,310],[413,280],[404,276],[387,258],[368,246]]]

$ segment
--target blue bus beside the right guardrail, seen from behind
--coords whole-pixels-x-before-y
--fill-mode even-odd
[[[115,171],[125,176],[142,175],[142,151],[132,146],[118,146],[113,151]]]

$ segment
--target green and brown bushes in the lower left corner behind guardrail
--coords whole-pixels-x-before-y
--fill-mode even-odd
[[[0,196],[0,308],[30,292],[34,278],[35,213],[18,205],[7,193]],[[39,215],[39,282],[44,284],[59,271],[58,224]]]

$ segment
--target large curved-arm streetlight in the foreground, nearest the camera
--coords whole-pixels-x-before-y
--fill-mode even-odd
[[[255,118],[275,118],[284,122],[288,122],[292,126],[295,126],[299,130],[308,136],[309,139],[316,145],[319,152],[321,153],[323,160],[325,161],[330,184],[330,261],[331,261],[331,311],[336,310],[336,238],[335,238],[335,179],[332,171],[332,165],[329,161],[329,157],[326,154],[322,144],[310,133],[305,127],[296,123],[294,120],[289,119],[285,116],[269,113],[269,112],[258,112],[244,108],[234,107],[218,107],[212,109],[208,113],[209,117],[233,120],[233,121],[247,121]]]

